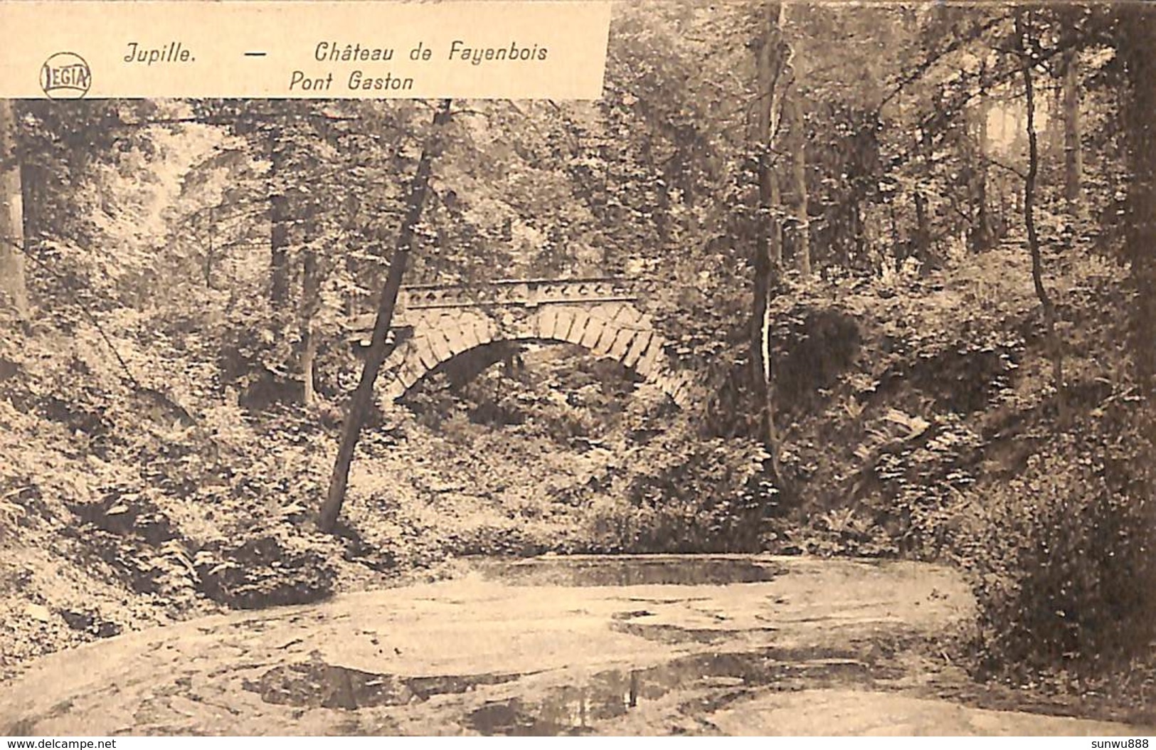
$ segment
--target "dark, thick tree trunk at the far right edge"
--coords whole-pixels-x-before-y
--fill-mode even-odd
[[[1126,250],[1136,292],[1132,357],[1141,389],[1156,396],[1156,9],[1121,5],[1118,13],[1129,83],[1124,111],[1132,168]]]

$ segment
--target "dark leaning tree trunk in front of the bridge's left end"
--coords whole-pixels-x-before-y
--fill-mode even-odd
[[[393,259],[390,262],[390,273],[385,279],[381,297],[378,299],[377,319],[373,322],[373,336],[369,351],[365,355],[365,366],[362,370],[357,388],[349,400],[349,410],[346,414],[346,422],[341,428],[341,445],[338,447],[338,459],[333,465],[333,476],[329,480],[329,491],[321,504],[318,517],[317,525],[323,532],[333,530],[333,526],[338,521],[338,515],[341,513],[341,505],[346,500],[349,467],[354,460],[354,452],[357,450],[357,440],[361,438],[362,425],[365,423],[365,417],[373,403],[373,384],[377,381],[377,374],[385,363],[386,337],[390,334],[390,326],[393,324],[393,311],[398,304],[398,291],[401,289],[401,281],[406,275],[406,266],[409,262],[409,253],[414,246],[417,223],[422,218],[422,209],[425,206],[425,194],[429,192],[433,158],[440,150],[440,131],[449,121],[450,99],[445,99],[442,107],[433,116],[433,129],[424,148],[422,148],[422,154],[417,159],[417,171],[409,183],[406,213],[401,221],[401,228],[398,230]],[[384,238],[379,238],[379,242],[380,239]],[[384,245],[384,242],[381,245]]]

